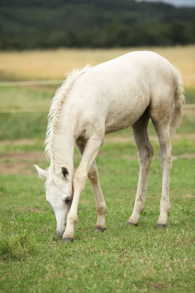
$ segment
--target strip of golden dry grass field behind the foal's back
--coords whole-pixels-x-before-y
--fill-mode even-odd
[[[96,65],[135,50],[152,50],[181,71],[184,86],[195,88],[195,45],[168,48],[57,49],[0,52],[0,81],[62,80],[66,72]]]

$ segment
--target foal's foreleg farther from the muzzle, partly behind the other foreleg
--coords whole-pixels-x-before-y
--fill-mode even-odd
[[[76,145],[78,148],[79,153],[83,154],[84,151],[84,146],[83,145]],[[98,220],[96,223],[95,230],[96,231],[104,231],[106,230],[106,225],[105,225],[105,216],[106,216],[106,203],[104,200],[104,196],[101,190],[101,186],[99,183],[99,178],[98,178],[98,168],[96,165],[96,162],[92,164],[92,167],[90,168],[88,172],[88,178],[91,183],[91,187],[94,192],[94,198],[96,202],[96,209],[97,209],[97,214],[98,214]]]

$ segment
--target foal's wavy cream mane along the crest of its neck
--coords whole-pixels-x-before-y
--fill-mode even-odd
[[[61,108],[64,105],[67,96],[72,89],[73,85],[77,81],[78,77],[87,71],[90,65],[86,65],[82,69],[74,69],[67,75],[66,80],[57,90],[48,114],[48,125],[45,139],[45,156],[49,162],[52,163],[50,167],[54,168],[55,158],[54,150],[58,147],[58,123],[62,114]]]

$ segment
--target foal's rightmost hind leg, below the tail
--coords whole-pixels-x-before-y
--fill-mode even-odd
[[[172,145],[170,141],[170,123],[162,125],[153,121],[160,144],[160,163],[162,169],[162,196],[160,201],[160,215],[157,228],[167,227],[167,218],[170,210],[169,202],[169,177],[172,169]]]

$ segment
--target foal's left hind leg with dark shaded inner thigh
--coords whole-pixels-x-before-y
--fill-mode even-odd
[[[127,222],[127,226],[137,226],[139,216],[144,210],[148,177],[154,153],[153,147],[151,146],[151,143],[148,138],[147,127],[149,119],[149,112],[148,109],[146,109],[144,114],[132,126],[134,140],[136,142],[138,149],[139,180],[134,210]]]

